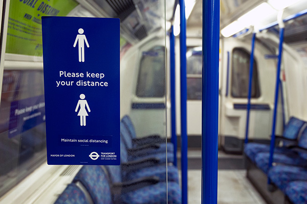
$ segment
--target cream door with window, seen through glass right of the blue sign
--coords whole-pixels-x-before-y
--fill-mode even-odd
[[[142,43],[135,54],[130,117],[136,134],[166,136],[166,48],[159,38]],[[129,64],[131,65],[131,64]]]

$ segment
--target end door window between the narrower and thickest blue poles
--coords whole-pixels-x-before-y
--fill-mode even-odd
[[[187,52],[187,99],[202,99],[202,47]]]

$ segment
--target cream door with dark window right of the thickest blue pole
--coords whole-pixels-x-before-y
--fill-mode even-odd
[[[236,152],[242,151],[245,138],[251,46],[250,40],[237,38],[224,38],[222,43],[221,144],[226,151]],[[276,60],[265,56],[274,52],[257,40],[249,124],[249,138],[255,140],[269,139],[271,131]]]

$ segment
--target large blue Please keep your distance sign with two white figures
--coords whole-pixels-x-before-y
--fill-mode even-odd
[[[120,20],[42,17],[48,164],[120,164]]]

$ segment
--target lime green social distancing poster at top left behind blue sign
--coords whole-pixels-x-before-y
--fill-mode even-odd
[[[41,16],[66,16],[74,0],[11,0],[6,53],[42,56]]]

